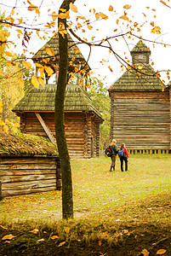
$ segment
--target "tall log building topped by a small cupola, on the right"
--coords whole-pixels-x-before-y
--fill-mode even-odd
[[[111,84],[111,134],[129,153],[171,153],[171,86],[151,67],[151,50],[140,40],[133,66]]]

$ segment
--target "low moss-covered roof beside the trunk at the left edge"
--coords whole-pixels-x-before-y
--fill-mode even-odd
[[[58,155],[57,147],[47,138],[29,134],[7,134],[0,131],[0,156],[1,155]]]

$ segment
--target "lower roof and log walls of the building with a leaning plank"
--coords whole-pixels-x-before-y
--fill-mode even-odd
[[[32,88],[14,107],[20,131],[48,137],[55,143],[55,84]],[[103,121],[88,94],[79,84],[67,84],[65,99],[66,143],[71,159],[99,156],[100,123]]]

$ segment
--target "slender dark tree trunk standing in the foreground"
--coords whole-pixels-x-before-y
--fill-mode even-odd
[[[69,9],[69,4],[75,0],[64,0],[60,9]],[[60,11],[59,11],[60,13]],[[64,23],[66,20],[58,20],[58,23]],[[59,26],[58,24],[58,26]],[[67,35],[65,38],[59,33],[59,78],[57,82],[57,90],[55,94],[55,134],[56,142],[59,150],[61,174],[62,174],[62,215],[63,218],[73,218],[73,199],[72,199],[72,179],[71,179],[71,164],[68,148],[66,144],[66,133],[64,125],[64,101],[68,74],[68,41]]]

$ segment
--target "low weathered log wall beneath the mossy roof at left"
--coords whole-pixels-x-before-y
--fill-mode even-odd
[[[61,189],[58,157],[1,157],[3,197]]]

